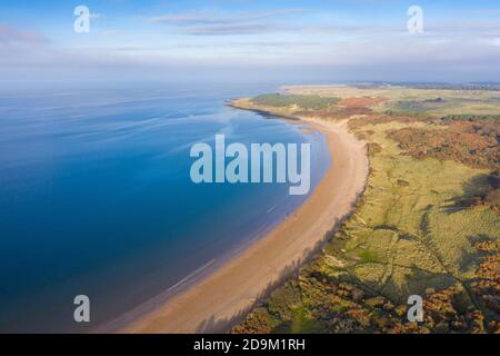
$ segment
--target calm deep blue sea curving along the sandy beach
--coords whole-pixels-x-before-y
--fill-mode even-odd
[[[307,196],[190,179],[196,142],[324,138],[229,108],[270,85],[24,85],[0,90],[0,332],[91,332],[217,268]],[[73,298],[90,298],[90,323]]]

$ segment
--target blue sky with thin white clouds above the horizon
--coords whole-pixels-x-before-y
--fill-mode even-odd
[[[0,0],[0,82],[203,79],[499,82],[500,2]]]

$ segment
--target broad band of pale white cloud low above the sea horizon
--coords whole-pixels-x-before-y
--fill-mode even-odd
[[[233,37],[187,37],[161,29],[146,37],[130,30],[122,32],[127,33],[120,37],[123,41],[116,41],[117,33],[106,32],[109,38],[99,46],[89,40],[86,48],[70,48],[57,46],[38,32],[0,26],[0,75],[13,76],[17,68],[18,73],[33,77],[91,73],[154,78],[232,71],[257,78],[251,73],[287,71],[303,78],[323,73],[354,80],[414,79],[411,76],[437,81],[500,80],[500,34],[494,36],[498,27],[493,23],[469,23],[461,28],[462,34],[454,32],[453,23],[430,23],[423,36],[411,36],[404,32],[404,26],[379,26],[368,31],[354,23],[293,27],[274,21],[224,22],[220,18],[219,22],[207,23],[207,17],[197,18],[203,24],[193,24],[193,18],[191,22],[187,18],[174,21],[184,21],[176,24],[182,33]]]

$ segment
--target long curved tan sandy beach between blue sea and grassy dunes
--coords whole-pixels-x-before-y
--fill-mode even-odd
[[[274,230],[200,283],[120,333],[224,333],[298,270],[350,214],[368,177],[364,144],[347,122],[303,119],[327,138],[332,165],[307,201]]]

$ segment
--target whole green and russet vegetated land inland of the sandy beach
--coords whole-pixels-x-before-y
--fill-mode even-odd
[[[494,119],[481,119],[486,111],[500,113],[500,107],[494,111],[500,102],[493,100],[499,93],[400,92],[392,88],[379,92],[370,89],[367,96],[366,90],[337,87],[330,91],[327,87],[292,91],[369,106],[364,108],[371,113],[347,119],[351,130],[368,144],[371,172],[356,214],[322,253],[233,332],[500,332],[500,215],[494,199],[500,130]],[[484,102],[460,101],[469,95],[483,97]],[[436,97],[444,98],[447,105],[437,108],[440,100],[426,102]],[[380,113],[388,108],[401,109],[401,98],[423,100],[423,109],[412,103],[403,111],[423,112],[427,119]],[[462,103],[449,106],[451,98]],[[298,108],[289,110],[289,115],[303,115]],[[326,120],[346,119],[319,113]],[[450,113],[469,116],[463,120],[441,117]],[[479,119],[470,123],[470,116]],[[457,121],[459,128],[454,127]],[[470,126],[476,130],[470,131]],[[414,135],[422,130],[427,135],[424,149],[418,145],[421,136]],[[462,136],[457,141],[441,139],[443,134],[468,135],[470,140]],[[472,159],[487,155],[477,150],[478,140],[483,140],[488,155],[492,155],[488,159]],[[423,297],[423,323],[407,319],[410,295]]]

